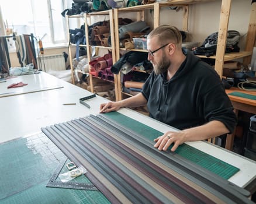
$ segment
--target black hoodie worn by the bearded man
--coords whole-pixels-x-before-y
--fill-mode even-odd
[[[175,75],[166,76],[152,72],[143,86],[150,117],[178,129],[217,120],[234,131],[236,115],[215,69],[188,51]]]

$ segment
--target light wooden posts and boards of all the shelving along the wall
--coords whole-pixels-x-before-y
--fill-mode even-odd
[[[160,25],[161,8],[164,8],[167,6],[182,6],[183,8],[182,30],[188,31],[189,5],[200,3],[200,2],[209,2],[209,1],[215,1],[215,0],[172,0],[167,2],[155,2],[147,5],[139,5],[139,6],[133,6],[133,7],[127,7],[127,8],[110,9],[110,10],[104,10],[100,12],[85,13],[84,15],[74,15],[70,17],[84,17],[85,33],[86,33],[86,36],[88,36],[88,24],[91,24],[91,16],[102,16],[102,15],[109,16],[112,46],[111,47],[97,46],[97,47],[111,49],[113,64],[115,64],[115,62],[120,58],[120,50],[127,50],[125,48],[119,47],[118,17],[120,13],[131,13],[131,12],[136,13],[137,20],[145,20],[145,11],[152,9],[154,10],[153,27],[155,28]],[[248,22],[247,44],[245,47],[245,51],[225,54],[230,9],[231,9],[231,0],[222,0],[222,5],[220,9],[217,51],[215,56],[209,57],[210,59],[215,59],[215,70],[219,74],[220,78],[222,78],[223,64],[225,61],[244,58],[244,64],[245,65],[250,64],[252,48],[254,47],[254,44],[255,44],[256,3],[252,3],[250,22]],[[91,61],[91,58],[89,57],[91,56],[91,46],[89,45],[88,37],[87,37],[86,44],[87,44],[86,46],[87,46],[88,61]],[[129,50],[129,51],[147,52],[147,50],[136,50],[136,49]],[[71,55],[71,51],[70,51],[70,55]],[[198,55],[198,56],[200,58],[206,58],[205,56],[202,56],[202,55]],[[71,70],[72,70],[72,66],[71,66]],[[116,100],[122,100],[122,86],[120,82],[120,75],[114,75],[114,78],[115,78],[114,82],[115,82]],[[90,75],[89,79],[90,79],[91,92],[94,92],[93,83],[92,83],[93,76]],[[72,71],[72,81],[74,82],[73,71]]]

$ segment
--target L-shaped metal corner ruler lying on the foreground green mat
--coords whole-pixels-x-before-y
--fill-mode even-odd
[[[53,175],[51,176],[49,182],[47,183],[46,187],[54,187],[54,188],[70,188],[70,189],[80,189],[80,190],[90,190],[90,191],[99,191],[98,188],[95,187],[94,184],[85,184],[82,182],[61,182],[57,181],[58,175],[60,174],[61,170],[65,166],[67,159],[62,161],[56,171],[54,171]]]

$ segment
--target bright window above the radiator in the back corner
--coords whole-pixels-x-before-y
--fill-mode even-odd
[[[67,3],[67,4],[66,4]],[[61,12],[71,8],[71,0],[0,0],[5,27],[20,34],[31,34],[44,47],[67,43],[67,25]]]

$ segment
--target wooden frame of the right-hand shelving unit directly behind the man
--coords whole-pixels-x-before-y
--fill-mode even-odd
[[[214,0],[213,0],[214,1]],[[118,17],[120,13],[124,12],[135,12],[137,20],[145,20],[145,10],[151,9],[154,11],[154,22],[153,22],[153,29],[160,25],[160,12],[161,8],[167,6],[180,6],[183,8],[183,17],[182,17],[182,29],[183,31],[188,31],[188,13],[189,13],[189,5],[194,5],[200,2],[209,2],[207,0],[172,0],[167,2],[155,2],[148,5],[140,5],[140,6],[133,6],[128,8],[120,8],[114,9],[114,16],[115,16],[115,38],[116,38],[116,60],[120,58],[120,51],[139,51],[139,52],[147,52],[146,50],[137,50],[137,49],[125,49],[119,47],[119,30],[118,30]],[[227,30],[229,24],[229,17],[230,17],[230,10],[231,10],[231,0],[222,0],[221,9],[220,9],[220,20],[219,20],[219,30],[218,30],[218,41],[217,41],[217,50],[216,55],[211,57],[206,57],[205,55],[198,55],[200,58],[210,58],[215,59],[215,70],[219,74],[220,78],[223,75],[223,64],[225,61],[231,61],[234,59],[243,58],[243,63],[245,65],[250,64],[252,49],[255,44],[255,37],[256,37],[256,3],[252,3],[251,9],[251,16],[248,22],[248,34],[247,34],[247,41],[245,45],[245,51],[240,52],[230,52],[225,53],[226,47],[226,39],[227,39]],[[120,75],[117,78],[118,83],[118,96],[117,99],[122,100],[122,82],[120,80]]]

